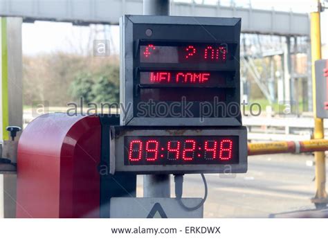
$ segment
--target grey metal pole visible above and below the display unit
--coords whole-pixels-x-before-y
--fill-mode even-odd
[[[143,15],[170,15],[170,0],[143,0]],[[143,176],[143,197],[170,196],[170,175]]]

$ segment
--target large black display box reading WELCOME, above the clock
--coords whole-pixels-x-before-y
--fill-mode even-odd
[[[122,125],[242,125],[241,19],[126,15],[120,26]]]

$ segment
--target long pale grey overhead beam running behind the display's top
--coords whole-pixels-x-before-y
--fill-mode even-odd
[[[117,25],[122,15],[142,14],[143,0],[0,0],[0,16],[23,17],[24,21]],[[309,16],[302,13],[172,1],[170,15],[242,17],[242,33],[309,35]]]

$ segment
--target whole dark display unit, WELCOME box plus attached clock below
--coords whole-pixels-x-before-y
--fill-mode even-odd
[[[120,18],[120,126],[109,172],[244,173],[240,18]]]

